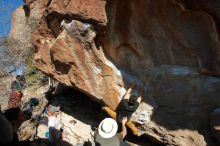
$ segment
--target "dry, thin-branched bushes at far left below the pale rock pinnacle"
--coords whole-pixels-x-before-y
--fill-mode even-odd
[[[27,19],[27,33],[19,39],[3,36],[0,38],[0,77],[24,68],[23,74],[28,85],[40,83],[46,76],[38,71],[33,64],[33,45],[31,34],[36,30],[38,19]]]

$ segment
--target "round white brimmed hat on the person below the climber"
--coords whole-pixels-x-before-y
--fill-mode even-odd
[[[118,130],[118,124],[112,118],[105,118],[99,124],[98,133],[103,138],[113,137]]]

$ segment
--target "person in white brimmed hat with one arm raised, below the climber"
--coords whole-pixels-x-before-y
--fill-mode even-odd
[[[127,118],[122,118],[122,131],[117,133],[118,125],[112,118],[105,118],[98,127],[95,133],[95,145],[97,146],[129,146],[124,142],[124,137],[127,135],[126,124]]]

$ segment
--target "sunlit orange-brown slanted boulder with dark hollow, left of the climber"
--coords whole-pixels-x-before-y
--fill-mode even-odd
[[[123,85],[122,80],[105,58],[102,49],[96,48],[94,41],[87,42],[90,40],[90,34],[86,34],[89,30],[83,32],[84,30],[80,29],[86,27],[85,24],[79,21],[74,23],[78,27],[71,30],[72,34],[64,29],[57,38],[50,37],[50,32],[47,31],[36,32],[36,66],[61,83],[75,86],[97,99],[102,99],[115,109],[119,97],[122,96],[118,93],[122,88],[119,85]],[[41,23],[41,27],[44,27],[43,25],[45,23]],[[39,37],[39,33],[47,33],[47,36]],[[119,84],[118,87],[113,87],[113,83]]]

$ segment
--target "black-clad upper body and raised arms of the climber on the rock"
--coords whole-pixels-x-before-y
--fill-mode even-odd
[[[132,116],[132,114],[137,110],[141,99],[142,99],[142,92],[143,89],[139,89],[139,95],[140,96],[135,96],[131,95],[132,88],[134,87],[134,84],[126,91],[124,98],[121,101],[121,104],[118,109],[118,114],[117,114],[117,122],[119,124],[119,131],[121,130],[121,123],[122,123],[122,118],[127,117],[129,120]]]

